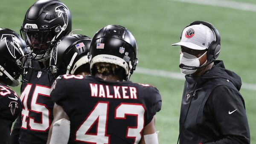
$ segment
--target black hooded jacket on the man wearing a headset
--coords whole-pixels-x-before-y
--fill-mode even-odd
[[[241,78],[225,69],[220,60],[204,75],[185,78],[180,144],[250,144],[244,99],[239,93]]]

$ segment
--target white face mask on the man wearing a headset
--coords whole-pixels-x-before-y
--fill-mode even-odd
[[[207,52],[205,52],[203,55],[205,55]],[[201,58],[203,55],[201,55],[199,58]],[[200,66],[200,61],[199,58],[197,58],[195,55],[190,55],[189,53],[186,52],[181,52],[180,53],[180,64],[184,64],[186,66]],[[206,61],[205,61],[206,63]],[[204,64],[203,64],[204,65]],[[195,73],[195,70],[192,69],[180,69],[181,73],[185,74],[185,75],[190,75]]]

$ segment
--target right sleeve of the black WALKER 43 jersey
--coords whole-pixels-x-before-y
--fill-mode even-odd
[[[145,125],[149,124],[153,119],[154,115],[161,110],[162,107],[162,97],[157,88],[150,86],[148,91],[148,96],[146,101],[146,108],[147,108],[147,116]]]

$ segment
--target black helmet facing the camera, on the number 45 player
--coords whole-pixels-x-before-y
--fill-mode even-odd
[[[55,43],[71,32],[71,14],[58,0],[38,0],[26,12],[20,34],[34,60],[44,61]]]

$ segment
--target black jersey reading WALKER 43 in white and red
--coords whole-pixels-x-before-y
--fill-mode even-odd
[[[153,86],[89,75],[58,77],[51,98],[70,118],[69,144],[138,144],[162,102]]]

